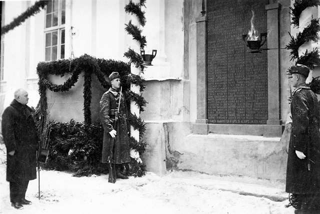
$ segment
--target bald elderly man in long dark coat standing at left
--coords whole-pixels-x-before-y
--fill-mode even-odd
[[[28,103],[28,93],[23,89],[14,92],[14,100],[2,114],[2,135],[7,151],[6,180],[10,186],[10,201],[14,208],[31,204],[25,199],[29,180],[36,178],[36,151],[38,137]]]

